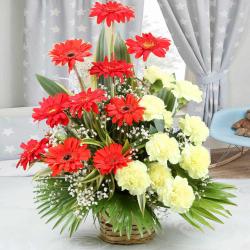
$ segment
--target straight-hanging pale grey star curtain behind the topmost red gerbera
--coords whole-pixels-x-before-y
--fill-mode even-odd
[[[94,0],[26,0],[24,29],[24,98],[26,106],[37,105],[45,94],[35,79],[35,74],[47,77],[67,78],[67,67],[56,67],[48,57],[48,51],[56,42],[82,38],[95,44],[100,25],[88,17]],[[104,1],[105,2],[105,1]],[[141,32],[143,0],[126,0],[132,6],[136,18],[118,25],[125,38]],[[93,48],[94,49],[94,48]]]

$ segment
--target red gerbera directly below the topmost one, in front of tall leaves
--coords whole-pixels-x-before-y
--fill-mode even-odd
[[[123,82],[124,76],[129,78],[134,75],[133,65],[126,61],[117,61],[115,59],[108,61],[108,58],[105,57],[103,62],[93,62],[92,64],[93,66],[90,69],[90,74],[97,75],[98,77],[118,77],[121,82]]]

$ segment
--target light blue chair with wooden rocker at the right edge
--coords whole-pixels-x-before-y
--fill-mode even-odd
[[[210,126],[210,135],[218,141],[229,144],[229,147],[220,160],[212,164],[211,167],[225,165],[241,157],[248,150],[245,148],[250,148],[250,138],[236,135],[235,130],[231,128],[235,122],[245,117],[248,109],[250,107],[222,109],[214,114]],[[232,146],[238,150],[226,158]]]

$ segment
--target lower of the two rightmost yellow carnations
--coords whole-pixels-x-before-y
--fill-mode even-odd
[[[210,165],[210,154],[203,146],[186,146],[182,151],[180,165],[194,179],[205,177]]]

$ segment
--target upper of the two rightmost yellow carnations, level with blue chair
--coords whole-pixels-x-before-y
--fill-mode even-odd
[[[189,136],[190,141],[196,145],[202,144],[209,135],[206,124],[199,116],[189,116],[186,114],[185,118],[179,120],[179,126],[182,132],[186,136]]]

